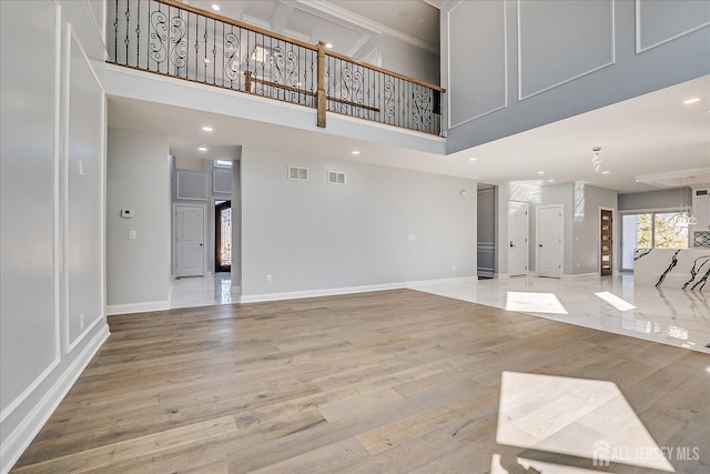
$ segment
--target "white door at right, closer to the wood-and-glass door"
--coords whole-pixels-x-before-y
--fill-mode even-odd
[[[562,276],[562,206],[537,209],[537,272],[540,276]]]

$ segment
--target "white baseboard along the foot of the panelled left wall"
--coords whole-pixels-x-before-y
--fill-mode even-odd
[[[54,413],[69,390],[74,385],[79,375],[89,365],[89,362],[99,352],[101,345],[105,342],[111,333],[109,325],[104,326],[94,335],[87,344],[77,359],[67,367],[67,371],[42,396],[42,400],[32,409],[22,423],[16,427],[9,436],[2,440],[0,447],[0,472],[7,473],[18,462],[24,450],[30,445],[34,436],[40,432],[44,423]]]

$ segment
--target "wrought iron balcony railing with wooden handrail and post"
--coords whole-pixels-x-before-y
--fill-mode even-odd
[[[440,133],[444,89],[172,0],[109,2],[110,62]]]

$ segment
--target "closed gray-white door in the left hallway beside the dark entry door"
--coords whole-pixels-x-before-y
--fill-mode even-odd
[[[175,276],[204,276],[204,206],[175,205]]]

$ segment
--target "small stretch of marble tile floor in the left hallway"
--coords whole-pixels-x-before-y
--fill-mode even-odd
[[[232,294],[232,274],[212,273],[205,276],[186,276],[170,282],[170,309],[214,306],[239,301]]]

